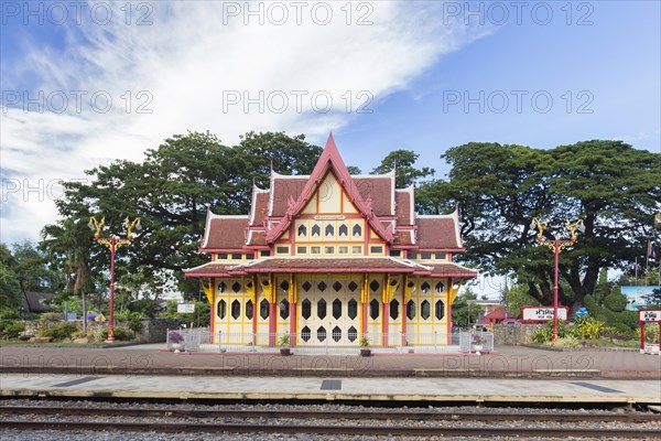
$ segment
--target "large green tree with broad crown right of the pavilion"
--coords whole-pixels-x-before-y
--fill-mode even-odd
[[[659,234],[652,216],[661,206],[661,154],[621,141],[585,141],[540,150],[473,142],[442,155],[449,181],[425,189],[427,211],[437,200],[458,202],[466,260],[490,273],[516,273],[542,304],[553,300],[553,254],[538,246],[531,218],[549,220],[544,239],[567,238],[565,219],[582,218],[586,232],[561,252],[563,304],[583,305],[603,268],[629,268]]]

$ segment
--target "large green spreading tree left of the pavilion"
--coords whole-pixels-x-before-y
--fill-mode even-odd
[[[234,147],[209,132],[176,135],[148,150],[142,163],[118,160],[87,171],[88,182],[65,184],[57,207],[64,219],[105,216],[104,236],[126,235],[123,219],[140,217],[142,229],[118,249],[118,280],[141,273],[156,281],[170,275],[191,297],[198,287],[183,278],[182,269],[206,261],[197,248],[207,206],[218,214],[247,214],[253,183],[268,186],[271,168],[285,174],[310,173],[321,151],[302,135],[249,132]],[[86,234],[91,241],[91,232]],[[99,257],[95,272],[107,269],[109,252],[97,244],[85,251],[99,251],[106,258]],[[152,283],[151,289],[158,287]]]

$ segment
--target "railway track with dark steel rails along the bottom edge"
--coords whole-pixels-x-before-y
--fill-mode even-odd
[[[144,408],[73,408],[36,406],[0,406],[0,429],[14,430],[57,430],[57,431],[118,431],[118,432],[165,432],[165,433],[286,433],[286,434],[346,434],[346,435],[404,435],[404,437],[543,437],[543,438],[610,438],[610,439],[661,439],[660,429],[649,424],[661,422],[655,415],[637,413],[570,413],[570,412],[438,412],[357,410],[267,410],[267,409],[144,409]],[[6,419],[9,416],[35,417],[29,419]],[[109,421],[55,421],[53,418],[40,420],[36,417],[59,416],[98,417]],[[126,422],[121,417],[138,421]],[[158,421],[150,421],[156,418]],[[145,419],[145,420],[140,420]],[[163,419],[167,420],[166,422]],[[198,420],[191,421],[191,419]],[[208,422],[227,419],[228,422]],[[177,421],[178,420],[178,421]],[[325,420],[335,423],[303,423],[305,420]],[[236,422],[238,421],[238,422]],[[362,423],[358,424],[357,422]],[[393,422],[426,421],[426,424],[398,426]],[[492,421],[522,421],[534,427],[488,427],[452,426],[453,422],[468,423]],[[576,428],[540,427],[539,422],[621,422],[627,428]],[[347,423],[349,422],[349,423]],[[434,424],[430,424],[435,422]],[[644,427],[630,427],[640,424]]]

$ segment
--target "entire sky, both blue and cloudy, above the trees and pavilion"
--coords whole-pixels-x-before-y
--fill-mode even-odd
[[[56,219],[61,180],[187,130],[319,144],[333,131],[364,171],[404,148],[438,176],[440,155],[470,141],[661,152],[658,1],[4,1],[0,13],[9,244]]]

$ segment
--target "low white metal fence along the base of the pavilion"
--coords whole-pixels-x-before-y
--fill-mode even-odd
[[[167,349],[178,348],[182,352],[231,352],[231,353],[277,353],[281,347],[279,343],[282,338],[289,336],[290,342],[299,342],[291,346],[292,352],[300,355],[356,355],[359,353],[358,338],[355,345],[342,345],[336,343],[340,335],[330,333],[324,342],[305,344],[302,341],[308,335],[278,333],[278,334],[253,334],[253,333],[212,333],[208,329],[176,330],[167,332]],[[369,348],[372,353],[470,353],[475,352],[475,343],[481,343],[483,352],[494,351],[494,333],[491,332],[460,332],[446,333],[367,333],[365,336],[369,340]],[[388,340],[388,346],[383,346],[384,340]],[[175,346],[177,344],[180,346]],[[414,344],[413,344],[414,343]]]

